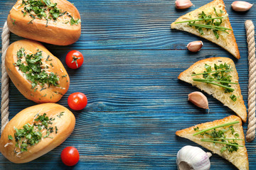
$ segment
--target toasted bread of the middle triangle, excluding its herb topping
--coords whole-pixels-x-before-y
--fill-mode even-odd
[[[181,72],[181,74],[179,74],[178,76],[178,79],[182,81],[186,81],[187,83],[190,83],[193,86],[198,87],[198,89],[206,91],[207,94],[213,95],[214,98],[217,98],[225,106],[228,106],[228,108],[232,109],[242,119],[243,122],[246,122],[247,112],[246,112],[245,102],[242,100],[242,94],[241,94],[239,84],[230,84],[231,88],[235,89],[235,91],[231,93],[225,93],[223,87],[215,86],[213,84],[206,84],[198,81],[193,81],[193,79],[202,79],[203,77],[202,75],[192,77],[191,74],[193,73],[198,74],[206,71],[205,64],[212,66],[212,69],[213,69],[214,64],[219,65],[221,63],[230,64],[230,67],[233,70],[229,74],[231,76],[231,81],[238,83],[238,72],[235,69],[235,63],[233,62],[233,60],[227,57],[211,57],[205,60],[200,60],[195,64],[193,64],[188,69],[186,69],[184,72]],[[232,95],[234,94],[235,96],[237,96],[237,101],[233,101],[230,98],[231,94]]]

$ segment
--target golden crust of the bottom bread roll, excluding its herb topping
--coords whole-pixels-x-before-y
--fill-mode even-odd
[[[60,115],[61,112],[64,113],[59,118],[57,115]],[[53,124],[50,126],[53,128],[56,126],[58,128],[58,132],[55,133],[54,130],[54,132],[50,133],[49,135],[50,137],[53,137],[53,139],[49,137],[44,139],[42,138],[38,144],[28,147],[27,152],[22,152],[21,154],[18,154],[17,157],[14,153],[16,144],[14,137],[14,133],[16,131],[14,130],[14,127],[21,129],[23,128],[23,125],[26,125],[26,123],[33,125],[33,119],[37,113],[39,113],[39,115],[46,113],[49,118],[55,118],[55,120],[53,120]],[[64,142],[73,132],[74,128],[75,116],[68,110],[68,108],[55,103],[43,103],[36,106],[31,106],[29,108],[25,108],[23,111],[15,115],[14,118],[12,118],[11,121],[6,125],[1,133],[0,152],[4,155],[4,157],[6,157],[6,159],[9,159],[9,161],[14,163],[20,164],[31,162],[33,159],[41,157],[43,154],[50,152],[50,150]],[[8,135],[11,135],[13,140],[9,140]],[[42,136],[44,135],[46,135],[45,132]]]

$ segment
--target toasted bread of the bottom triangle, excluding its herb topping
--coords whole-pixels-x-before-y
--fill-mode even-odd
[[[242,140],[235,140],[238,145],[244,146],[244,147],[238,147],[237,151],[233,152],[228,152],[228,149],[226,149],[224,152],[220,152],[220,149],[225,147],[224,144],[219,144],[219,143],[213,143],[213,142],[202,142],[201,139],[203,138],[210,138],[210,135],[195,135],[198,131],[195,131],[194,128],[198,127],[198,130],[205,130],[206,128],[212,128],[215,127],[216,125],[222,125],[224,123],[231,123],[234,121],[239,121],[239,123],[233,125],[233,129],[235,130],[235,133],[238,133],[239,137],[238,139]],[[229,126],[223,127],[225,130],[228,130]],[[222,130],[223,128],[216,128],[215,130]],[[210,131],[208,131],[210,132]],[[240,118],[236,115],[230,115],[226,118],[223,118],[221,120],[215,120],[213,122],[208,122],[208,123],[202,123],[199,125],[195,125],[191,128],[186,128],[183,130],[178,130],[176,132],[176,135],[180,137],[185,137],[188,140],[191,140],[193,142],[196,142],[198,145],[201,145],[202,147],[205,147],[206,149],[209,149],[210,151],[214,152],[215,154],[220,155],[221,157],[227,159],[229,162],[234,164],[238,169],[240,170],[246,170],[249,169],[249,163],[248,163],[248,155],[247,155],[247,149],[245,147],[245,136],[243,134],[242,130],[242,121]],[[235,138],[235,135],[232,135],[230,130],[225,132],[226,137],[225,138]],[[233,140],[229,140],[230,142],[234,142]]]

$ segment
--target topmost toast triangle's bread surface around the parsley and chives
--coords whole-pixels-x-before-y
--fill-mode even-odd
[[[203,35],[201,35],[198,29],[196,29],[195,27],[188,26],[188,23],[176,23],[181,21],[198,19],[198,14],[202,13],[202,11],[206,13],[206,16],[211,15],[212,18],[223,16],[223,19],[222,19],[223,23],[221,23],[220,26],[232,29],[229,18],[228,18],[228,13],[225,10],[225,4],[223,0],[211,1],[209,4],[201,6],[200,8],[194,11],[191,11],[190,13],[187,13],[184,16],[181,16],[174,23],[171,23],[171,29],[184,30],[188,33],[198,35],[201,38],[206,38],[206,40],[210,40],[211,42],[214,42],[215,44],[220,45],[220,47],[223,47],[225,50],[230,52],[234,57],[240,59],[238,44],[235,40],[235,35],[233,33],[233,30],[226,30],[228,33],[224,33],[218,30],[217,33],[219,35],[219,38],[217,39],[213,33],[213,30],[206,30],[206,28],[203,28]],[[216,16],[215,11],[218,13],[218,16]],[[196,23],[205,24],[205,21],[200,21],[200,22],[197,21]]]

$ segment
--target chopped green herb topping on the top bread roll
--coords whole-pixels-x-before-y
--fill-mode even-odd
[[[56,21],[58,17],[64,15],[70,17],[71,26],[74,24],[78,25],[78,23],[81,22],[80,18],[74,19],[67,11],[61,11],[61,9],[57,7],[57,3],[52,3],[50,0],[23,0],[21,6],[23,5],[24,10],[21,11],[23,16],[28,14],[32,18],[28,23],[33,23],[36,17],[39,19],[45,18],[47,27],[49,20]]]

